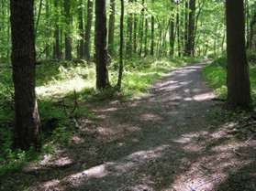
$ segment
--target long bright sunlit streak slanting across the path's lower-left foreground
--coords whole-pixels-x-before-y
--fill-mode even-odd
[[[170,149],[169,145],[161,145],[149,151],[139,151],[121,159],[120,162],[106,162],[104,164],[96,165],[89,169],[85,169],[79,173],[68,175],[60,179],[53,179],[47,181],[39,186],[40,189],[47,189],[50,186],[64,187],[72,186],[78,187],[83,184],[90,184],[90,180],[107,178],[107,176],[122,176],[128,174],[130,170],[141,167],[141,165],[148,163],[151,160],[161,158],[165,150]],[[141,187],[141,186],[139,186]],[[145,187],[145,186],[144,186]]]

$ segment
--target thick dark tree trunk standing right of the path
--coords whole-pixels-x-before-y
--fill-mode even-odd
[[[250,78],[245,51],[245,18],[242,0],[226,1],[228,53],[228,105],[250,108]]]

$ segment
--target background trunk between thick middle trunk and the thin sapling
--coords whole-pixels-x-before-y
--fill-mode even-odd
[[[113,56],[115,51],[115,15],[116,15],[116,0],[110,0],[110,15],[108,25],[108,52]]]

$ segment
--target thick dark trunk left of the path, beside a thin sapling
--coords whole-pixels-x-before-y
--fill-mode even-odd
[[[106,0],[95,1],[96,88],[109,87],[106,49]]]

